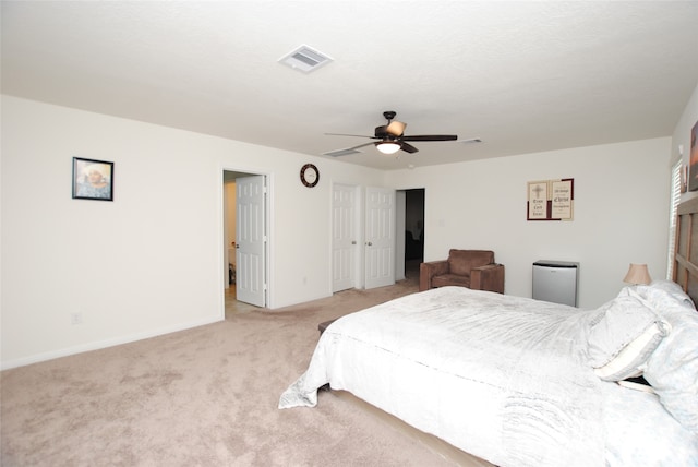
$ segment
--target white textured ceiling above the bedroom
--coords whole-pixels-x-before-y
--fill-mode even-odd
[[[334,61],[278,60],[308,45]],[[383,169],[669,136],[698,1],[2,1],[2,92]]]

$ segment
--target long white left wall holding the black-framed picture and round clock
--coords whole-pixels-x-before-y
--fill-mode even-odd
[[[330,182],[383,172],[2,96],[2,368],[224,318],[222,170],[263,172],[269,304],[332,294]],[[113,202],[71,199],[72,157],[115,163]],[[305,278],[305,280],[303,280]],[[83,323],[71,325],[71,313]]]

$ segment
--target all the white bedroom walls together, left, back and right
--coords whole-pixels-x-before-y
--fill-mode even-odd
[[[681,141],[688,160],[696,94],[673,144],[392,172],[312,158],[314,189],[299,180],[308,156],[2,96],[1,367],[221,320],[224,169],[270,180],[273,308],[330,294],[332,182],[425,188],[428,261],[452,247],[491,248],[506,265],[506,292],[524,297],[533,261],[579,261],[580,306],[598,307],[630,262],[664,275],[670,159]],[[112,203],[71,199],[74,156],[115,163]],[[526,183],[567,177],[575,220],[526,221]],[[70,324],[74,312],[83,324]]]

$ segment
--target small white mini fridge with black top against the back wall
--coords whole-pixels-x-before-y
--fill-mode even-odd
[[[579,263],[539,260],[533,263],[533,298],[577,307]]]

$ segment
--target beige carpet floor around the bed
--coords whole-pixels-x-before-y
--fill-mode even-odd
[[[279,395],[308,367],[318,323],[416,289],[407,279],[347,290],[5,370],[0,373],[1,464],[484,465],[469,464],[457,450],[455,457],[444,455],[347,393],[321,392],[315,408],[277,409]]]

